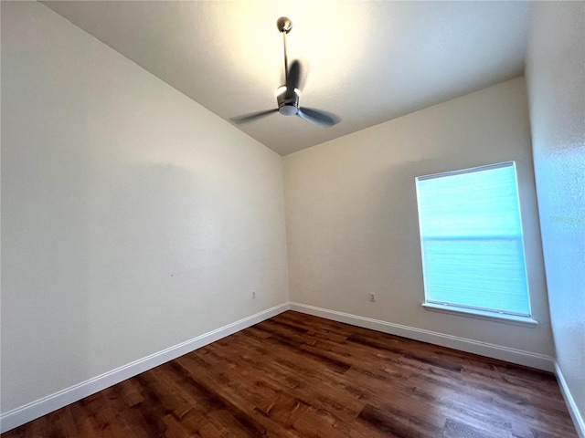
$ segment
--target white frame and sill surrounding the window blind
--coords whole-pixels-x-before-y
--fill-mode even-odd
[[[527,307],[528,307],[528,314],[518,314],[516,312],[506,312],[497,309],[484,309],[484,308],[473,308],[465,305],[458,306],[454,303],[442,303],[436,300],[429,300],[428,298],[428,287],[427,287],[427,275],[425,271],[425,252],[424,252],[424,237],[422,235],[422,217],[420,215],[420,188],[419,182],[420,181],[427,181],[432,179],[438,179],[443,177],[450,177],[456,175],[463,175],[472,172],[484,172],[490,171],[495,169],[502,169],[505,167],[512,167],[514,169],[515,174],[515,184],[516,184],[516,203],[517,203],[517,211],[519,214],[520,219],[520,235],[515,236],[519,240],[519,244],[522,249],[522,256],[524,258],[524,276],[526,276],[526,285],[527,285]],[[425,310],[441,312],[445,314],[451,315],[458,315],[468,318],[478,318],[478,319],[487,319],[492,320],[495,322],[504,322],[508,324],[515,324],[519,326],[527,326],[527,327],[536,327],[538,322],[533,318],[532,312],[532,303],[530,297],[530,287],[528,285],[528,275],[527,275],[527,257],[526,257],[526,248],[524,245],[524,232],[522,226],[522,210],[521,210],[521,203],[520,203],[520,191],[518,189],[518,174],[516,172],[516,162],[509,161],[509,162],[498,162],[495,164],[487,164],[483,166],[475,166],[467,169],[461,169],[456,171],[448,171],[448,172],[437,172],[431,173],[427,175],[417,176],[415,178],[415,188],[416,188],[416,195],[417,195],[417,215],[419,219],[419,236],[420,236],[420,258],[421,258],[421,265],[422,265],[422,276],[423,276],[423,284],[424,284],[424,302],[421,303],[421,306]],[[460,239],[461,240],[461,239]]]

